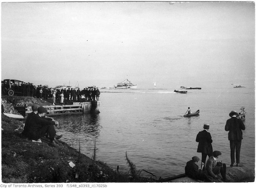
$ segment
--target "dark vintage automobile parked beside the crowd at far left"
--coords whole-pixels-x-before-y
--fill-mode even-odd
[[[17,79],[4,79],[2,81],[2,92],[4,95],[21,95],[22,81]]]

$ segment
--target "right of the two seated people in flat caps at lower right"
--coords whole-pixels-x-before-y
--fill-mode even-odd
[[[208,175],[217,179],[217,174],[221,173],[222,179],[226,181],[226,164],[222,162],[217,162],[217,159],[221,155],[220,151],[213,151],[212,156],[206,162],[205,170]]]

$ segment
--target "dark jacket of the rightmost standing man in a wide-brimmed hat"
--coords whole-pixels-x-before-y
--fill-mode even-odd
[[[227,123],[225,125],[225,130],[229,131],[228,140],[232,140],[232,141],[242,140],[243,139],[242,130],[245,130],[245,126],[241,119],[232,117],[227,120]]]

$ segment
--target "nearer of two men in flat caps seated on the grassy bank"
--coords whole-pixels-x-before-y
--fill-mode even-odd
[[[45,136],[46,133],[48,133],[51,140],[50,145],[57,147],[58,144],[56,143],[56,139],[61,138],[62,135],[56,136],[54,125],[59,123],[54,119],[44,117],[47,113],[47,110],[44,107],[39,107],[37,109],[37,112],[38,113],[34,115],[28,123],[29,138],[33,140],[38,140],[41,137]]]

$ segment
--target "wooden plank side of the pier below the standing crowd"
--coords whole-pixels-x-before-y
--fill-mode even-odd
[[[99,101],[90,101],[74,102],[73,104],[64,105],[48,105],[43,107],[47,110],[46,116],[63,116],[83,113],[100,113],[99,104]],[[25,116],[27,116],[31,112],[31,106],[25,107]]]

